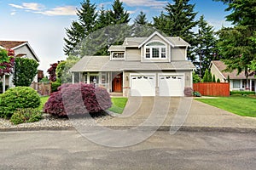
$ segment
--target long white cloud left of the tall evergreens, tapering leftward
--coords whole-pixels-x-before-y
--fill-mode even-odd
[[[38,14],[45,14],[49,16],[53,15],[76,15],[77,9],[73,6],[65,6],[65,7],[58,7],[58,8],[51,8],[45,11],[38,11]]]

